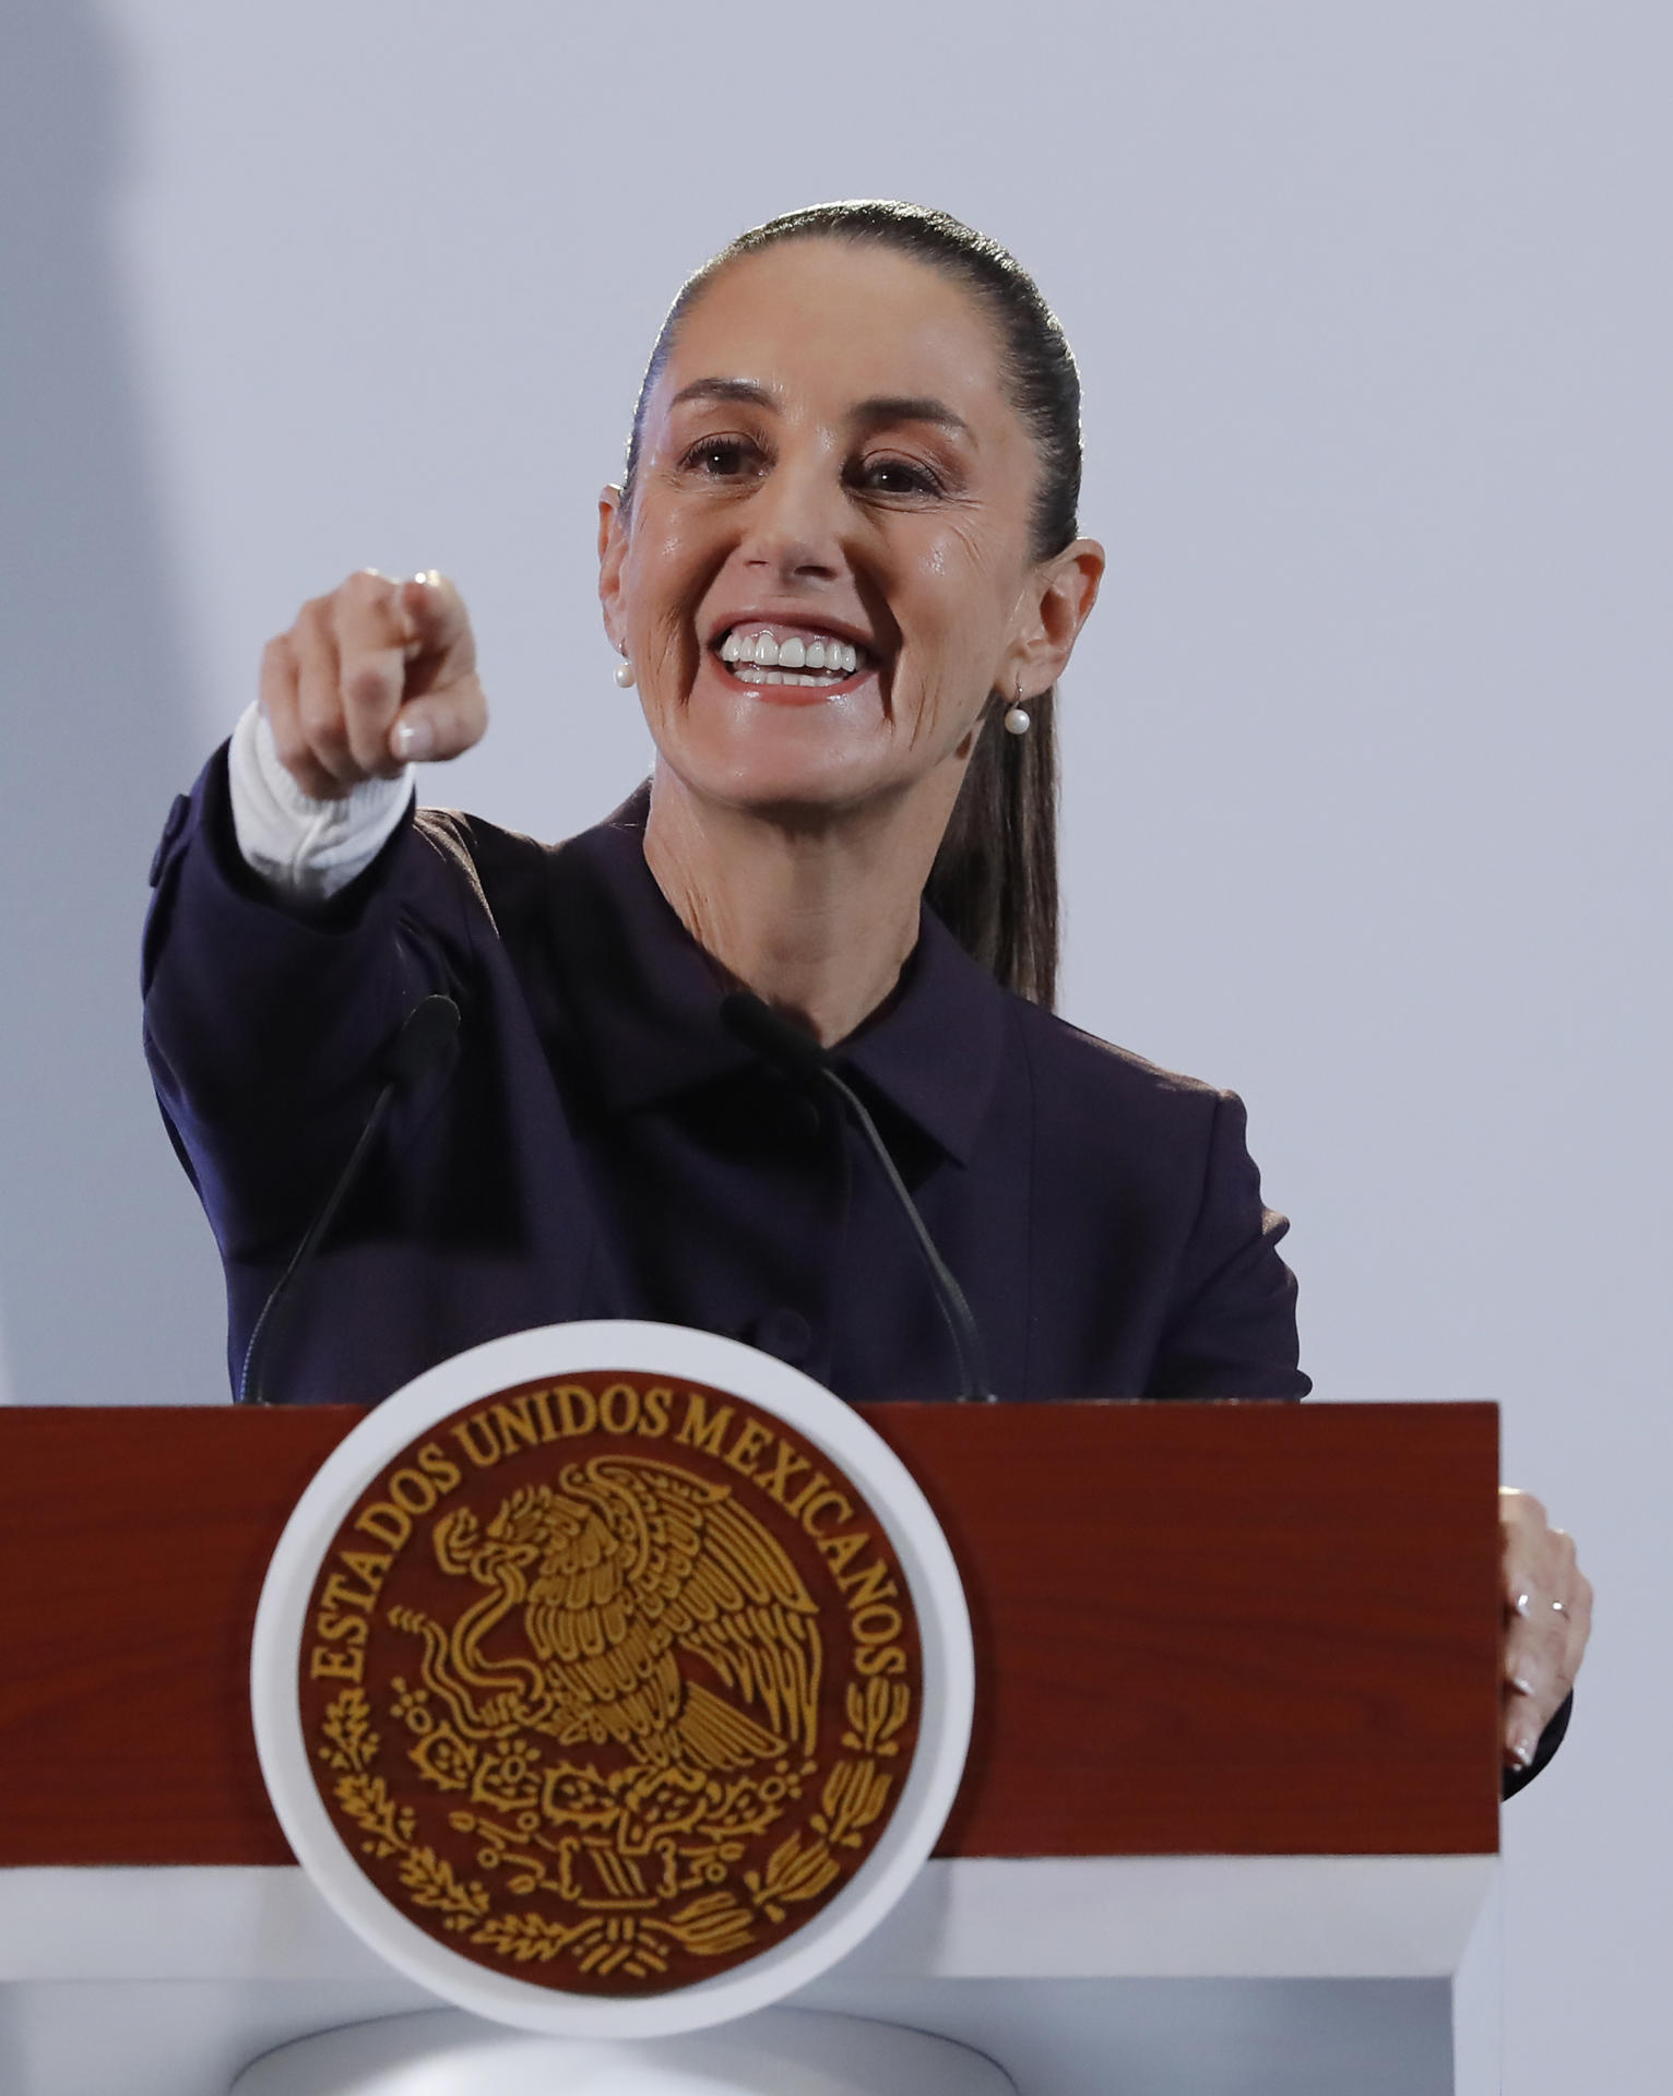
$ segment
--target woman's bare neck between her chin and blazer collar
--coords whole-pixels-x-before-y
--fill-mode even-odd
[[[700,799],[658,763],[646,864],[727,975],[830,1046],[883,1004],[918,943],[958,780],[927,786],[841,815],[763,815]]]

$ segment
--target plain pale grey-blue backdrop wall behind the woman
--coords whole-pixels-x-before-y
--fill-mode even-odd
[[[1507,2088],[1660,2092],[1669,107],[1654,0],[8,0],[10,1398],[224,1398],[134,943],[262,639],[447,568],[499,711],[428,799],[595,820],[648,744],[593,497],[662,306],[776,210],[943,203],[1086,379],[1063,1008],[1247,1096],[1319,1394],[1497,1398],[1581,1536]]]

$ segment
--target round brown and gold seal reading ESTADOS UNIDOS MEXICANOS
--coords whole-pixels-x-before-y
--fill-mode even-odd
[[[912,1761],[908,1578],[795,1425],[675,1377],[501,1390],[384,1461],[298,1650],[321,1803],[459,1956],[650,1995],[864,1865]]]

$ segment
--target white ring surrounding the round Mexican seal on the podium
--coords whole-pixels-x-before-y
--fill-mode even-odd
[[[906,1788],[853,1880],[797,1935],[744,1966],[669,1993],[560,1993],[493,1972],[447,1949],[400,1914],[358,1868],[321,1800],[298,1704],[298,1664],[319,1564],[348,1509],[386,1461],[428,1425],[539,1377],[621,1369],[683,1377],[776,1413],[824,1450],[870,1501],[889,1534],[922,1645],[922,1715]],[[273,1809],[338,1916],[396,1970],[442,2000],[526,2031],[566,2037],[662,2037],[698,2031],[784,2000],[847,1956],[906,1893],[929,1857],[964,1773],[975,1654],[964,1589],[948,1538],[899,1457],[841,1398],[799,1369],[736,1339],[681,1325],[591,1320],[545,1325],[470,1348],[386,1398],[325,1459],[273,1553],[256,1612],[249,1679],[256,1748]]]

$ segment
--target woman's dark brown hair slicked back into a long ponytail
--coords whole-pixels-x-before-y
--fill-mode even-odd
[[[1078,530],[1080,373],[1027,270],[998,241],[946,212],[918,203],[816,203],[769,218],[723,247],[686,281],[650,352],[633,434],[627,444],[625,499],[633,495],[646,400],[673,348],[679,323],[715,277],[742,256],[782,241],[843,239],[891,247],[962,283],[987,310],[1000,337],[1011,405],[1034,438],[1040,484],[1034,493],[1031,555],[1050,560]],[[1055,692],[1027,700],[1034,721],[1008,736],[1002,713],[1013,694],[996,692],[977,732],[975,755],[925,889],[931,910],[1006,989],[1036,1004],[1057,998],[1057,732]]]

